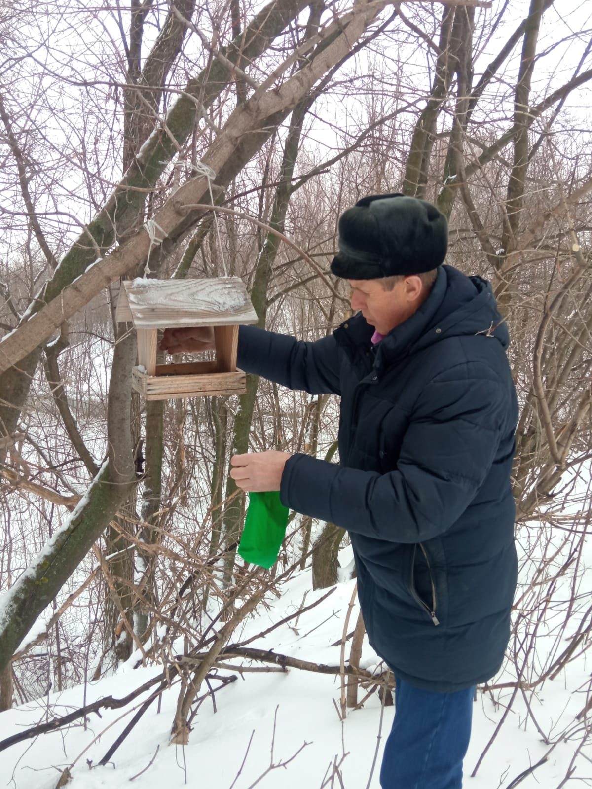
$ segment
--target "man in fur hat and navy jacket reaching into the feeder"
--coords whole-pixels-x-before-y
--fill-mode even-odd
[[[508,330],[489,283],[443,265],[447,246],[432,204],[365,197],[331,266],[359,312],[317,342],[238,340],[242,369],[341,397],[339,465],[268,451],[234,456],[230,475],[350,533],[369,641],[395,674],[384,789],[461,787],[474,687],[500,668],[515,590]],[[178,331],[164,347],[202,338]]]

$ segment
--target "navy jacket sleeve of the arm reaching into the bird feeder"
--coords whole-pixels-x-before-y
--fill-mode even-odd
[[[238,331],[237,365],[289,389],[340,394],[339,353],[332,335],[302,342],[253,326]]]

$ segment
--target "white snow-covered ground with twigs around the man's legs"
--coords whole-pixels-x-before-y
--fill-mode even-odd
[[[349,549],[341,556],[342,566],[349,560]],[[285,624],[251,646],[274,649],[316,663],[339,664],[339,646],[332,646],[343,634],[344,619],[354,581],[345,581],[335,588],[326,600],[306,611],[294,625]],[[308,593],[307,593],[308,590]],[[311,604],[327,590],[311,591],[310,571],[294,575],[281,588],[281,596],[268,598],[269,607],[260,607],[257,615],[245,622],[233,641],[244,640],[260,633],[302,605]],[[349,630],[353,630],[357,611],[354,609]],[[582,618],[575,617],[575,627]],[[551,635],[541,634],[539,649],[553,641]],[[564,649],[566,644],[561,645]],[[182,645],[179,644],[181,649]],[[349,645],[347,653],[349,653]],[[231,661],[237,664],[237,660]],[[372,670],[377,656],[367,642],[362,651],[362,667]],[[122,697],[159,674],[159,667],[139,667],[137,655],[122,666],[116,675],[88,683],[40,699],[0,714],[0,739],[31,727],[52,716],[60,716],[88,704],[99,697]],[[245,664],[248,665],[248,664]],[[255,664],[250,664],[255,665]],[[257,664],[260,667],[262,664]],[[220,674],[238,676],[237,671]],[[511,682],[515,674],[508,670],[496,682]],[[212,686],[217,683],[212,681]],[[493,694],[478,692],[474,704],[474,729],[469,753],[465,761],[465,787],[497,789],[508,787],[512,780],[549,753],[549,759],[527,776],[521,789],[529,787],[559,787],[571,765],[575,750],[582,740],[586,721],[575,720],[575,715],[586,703],[590,685],[590,664],[586,653],[568,666],[566,672],[553,681],[545,681],[538,694],[518,691],[506,713],[512,689],[496,690]],[[579,689],[579,690],[577,690]],[[212,789],[247,789],[277,787],[285,789],[320,789],[340,787],[364,789],[380,786],[378,774],[385,736],[392,723],[394,709],[381,709],[377,694],[369,697],[362,709],[348,711],[347,719],[339,720],[335,701],[339,706],[339,677],[290,669],[287,673],[245,672],[242,677],[222,687],[212,699],[206,698],[193,720],[187,746],[169,745],[170,726],[179,686],[167,690],[158,709],[154,701],[128,739],[114,753],[110,764],[97,765],[118,734],[129,722],[141,701],[138,697],[125,709],[102,710],[99,717],[92,713],[86,722],[81,720],[67,729],[39,736],[12,746],[0,755],[0,785],[14,789],[53,789],[60,772],[74,763],[73,789],[127,787],[133,776],[144,789],[176,789],[176,787],[212,787]],[[206,690],[205,687],[202,690]],[[361,690],[360,699],[365,691]],[[530,704],[538,731],[526,714]],[[382,729],[380,717],[383,715]],[[504,724],[485,754],[477,775],[470,777],[496,727],[505,715]],[[568,727],[573,735],[552,749],[553,742]],[[381,736],[381,739],[380,738]],[[542,736],[550,739],[545,744]],[[272,749],[273,744],[273,749]],[[372,772],[376,749],[377,766]],[[345,756],[344,756],[345,754]],[[569,786],[592,784],[592,749],[585,745],[571,766],[575,766]],[[153,760],[153,761],[152,761]],[[290,761],[291,760],[291,761]],[[148,766],[152,761],[152,765]],[[269,770],[270,765],[276,766]],[[332,765],[339,765],[339,778],[331,779]],[[268,772],[266,772],[268,771]],[[583,779],[588,780],[583,780]],[[590,782],[590,783],[589,783]]]

